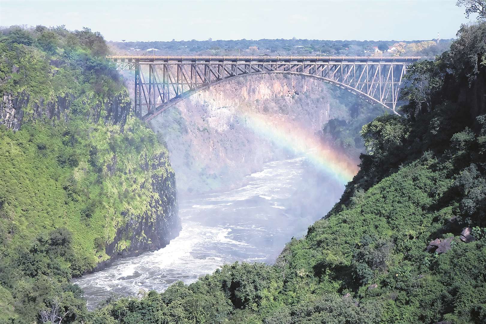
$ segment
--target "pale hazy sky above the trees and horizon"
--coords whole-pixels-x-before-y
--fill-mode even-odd
[[[456,0],[11,1],[0,25],[89,27],[107,40],[451,38],[468,20]]]

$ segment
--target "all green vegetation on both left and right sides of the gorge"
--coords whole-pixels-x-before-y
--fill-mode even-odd
[[[225,265],[87,312],[71,276],[108,247],[150,241],[117,229],[142,214],[153,227],[149,205],[157,198],[165,213],[169,198],[149,183],[174,184],[166,149],[126,116],[105,53],[88,29],[0,38],[1,324],[486,322],[486,22],[462,26],[450,51],[409,70],[402,117],[362,128],[360,172],[275,265]],[[339,127],[329,134],[346,138]],[[466,226],[472,240],[461,239]],[[428,252],[435,239],[447,244]]]

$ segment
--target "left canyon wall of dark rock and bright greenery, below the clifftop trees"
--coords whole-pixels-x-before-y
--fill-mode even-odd
[[[53,228],[69,224],[82,259],[76,266],[79,273],[100,270],[122,256],[163,248],[181,228],[169,153],[150,129],[129,116],[127,91],[105,100],[91,99],[66,94],[34,101],[21,92],[3,93],[0,100],[4,127],[0,146],[11,137],[10,147],[22,147],[20,156],[10,149],[2,153],[5,172],[0,180],[20,184],[0,190],[5,202],[0,212],[14,210],[18,197],[28,197],[24,203],[40,206],[43,215],[33,217],[22,207],[16,213],[18,223],[26,220],[30,230],[39,227],[39,231],[46,219]],[[24,143],[23,135],[11,130],[26,131],[29,141]],[[37,143],[34,136],[45,139]],[[32,172],[35,177],[21,176]],[[56,193],[51,201],[41,198],[44,183]],[[47,206],[44,210],[44,204],[55,204],[57,210]]]

